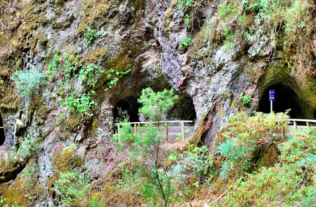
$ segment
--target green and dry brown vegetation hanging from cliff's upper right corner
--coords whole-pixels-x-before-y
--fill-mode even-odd
[[[307,75],[316,75],[314,7],[313,1],[306,0],[225,1],[212,37],[214,41],[226,40],[225,45],[230,48],[260,41],[258,47],[263,51],[260,55],[268,56],[269,60],[277,47],[283,47],[290,75],[300,86],[307,87]],[[237,23],[233,23],[236,16],[239,16]],[[225,33],[225,29],[231,32]]]

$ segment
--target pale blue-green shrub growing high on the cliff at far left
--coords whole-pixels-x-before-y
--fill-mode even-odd
[[[14,81],[22,97],[31,97],[35,89],[44,85],[46,76],[44,73],[35,70],[27,70],[25,72],[16,71],[10,79]]]

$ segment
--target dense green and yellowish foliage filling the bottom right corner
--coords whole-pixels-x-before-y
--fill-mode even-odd
[[[278,144],[278,163],[238,179],[222,206],[315,206],[315,146],[313,129],[297,131]]]

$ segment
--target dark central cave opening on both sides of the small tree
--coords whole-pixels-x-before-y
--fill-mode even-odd
[[[138,109],[142,104],[138,103],[139,97],[126,97],[115,104],[113,110],[113,121],[116,122],[122,119],[120,111],[127,111],[129,122],[139,122]],[[193,104],[193,99],[190,96],[179,95],[179,99],[174,102],[167,114],[167,120],[196,120],[196,111]]]

